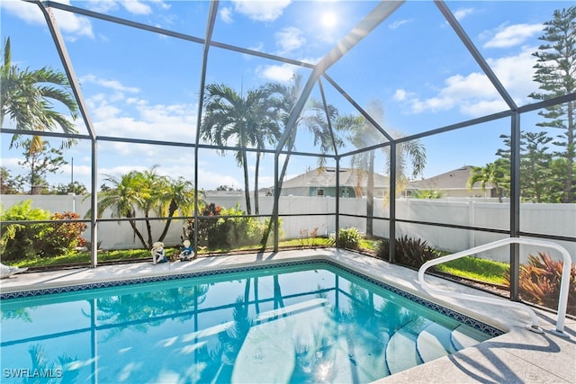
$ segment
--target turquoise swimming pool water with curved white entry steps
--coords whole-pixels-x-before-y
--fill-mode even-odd
[[[18,382],[368,382],[502,334],[318,260],[6,297]]]

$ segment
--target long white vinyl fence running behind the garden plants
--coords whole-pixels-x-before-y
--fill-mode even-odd
[[[74,195],[2,195],[1,202],[7,209],[19,201],[32,200],[32,207],[49,210],[50,212],[75,211],[81,218],[85,217],[90,209],[90,201],[84,196]],[[207,196],[205,201],[213,202],[225,208],[239,206],[245,210],[243,195]],[[259,198],[259,213],[270,215],[274,204],[273,197]],[[339,200],[341,213],[352,215],[365,215],[365,199]],[[336,199],[330,197],[282,196],[279,212],[282,218],[282,230],[286,238],[302,237],[302,233],[309,233],[318,228],[319,236],[329,236],[336,232],[336,217],[326,212],[336,211]],[[283,214],[299,214],[312,216],[283,216]],[[374,217],[389,217],[388,208],[381,199],[374,201]],[[103,218],[110,218],[110,212],[104,212]],[[396,218],[414,221],[438,222],[450,225],[462,225],[480,228],[509,228],[509,204],[498,201],[473,201],[467,199],[400,199],[396,201]],[[539,234],[574,237],[576,235],[576,204],[535,204],[526,203],[520,206],[520,230]],[[144,221],[137,223],[140,232],[146,238],[147,230]],[[183,220],[173,220],[164,242],[166,246],[180,244],[183,235]],[[389,237],[388,220],[374,219],[374,236]],[[165,221],[152,221],[152,231],[158,237],[165,226]],[[355,227],[365,232],[366,219],[340,216],[340,228]],[[458,228],[442,228],[428,225],[409,224],[398,222],[396,237],[407,235],[425,239],[428,245],[448,252],[459,252],[464,249],[480,246],[500,238],[506,237],[491,232],[469,231]],[[90,229],[83,235],[90,238]],[[154,238],[157,240],[157,238]],[[128,222],[100,223],[98,226],[98,241],[102,249],[124,249],[140,247],[138,238],[134,237]],[[576,260],[576,243],[558,242],[564,246]],[[521,246],[522,260],[527,255],[537,255],[538,252],[549,251],[554,258],[554,250],[535,249],[530,246]],[[494,260],[508,261],[509,253],[500,248],[489,251],[482,257]]]

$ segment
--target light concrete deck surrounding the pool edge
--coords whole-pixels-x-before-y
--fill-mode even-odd
[[[525,328],[530,322],[530,317],[524,310],[463,299],[432,297],[420,288],[418,272],[366,255],[333,248],[207,256],[199,257],[191,262],[157,265],[128,263],[54,272],[29,272],[1,280],[0,292],[36,290],[311,258],[329,259],[341,263],[507,332],[458,353],[377,380],[378,383],[576,383],[576,320],[566,318],[565,335],[559,336],[553,332],[556,316],[536,309],[540,326],[544,330],[544,334],[536,334]],[[430,286],[437,289],[500,299],[482,290],[474,290],[433,276],[427,276],[427,281]]]

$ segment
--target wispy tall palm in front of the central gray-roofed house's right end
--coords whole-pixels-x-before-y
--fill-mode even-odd
[[[373,101],[369,103],[366,111],[373,117],[374,121],[383,126],[384,109],[382,103]],[[338,117],[336,129],[347,131],[347,139],[357,148],[369,147],[383,139],[383,135],[378,132],[374,125],[364,116],[344,115]],[[401,138],[403,135],[397,131],[390,131],[392,138]],[[384,154],[388,156],[387,169],[390,167],[390,149],[384,148]],[[352,156],[350,166],[358,173],[358,183],[364,174],[367,176],[366,183],[366,236],[374,235],[374,149]],[[411,176],[414,177],[424,170],[426,165],[426,151],[419,140],[401,142],[396,150],[396,192],[401,192],[409,179],[408,158],[412,168]],[[390,198],[390,197],[388,197]]]

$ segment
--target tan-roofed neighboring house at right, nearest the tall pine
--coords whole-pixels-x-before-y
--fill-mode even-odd
[[[498,197],[496,188],[491,184],[486,184],[484,190],[480,183],[475,183],[472,190],[468,188],[472,170],[472,165],[464,165],[445,174],[410,182],[406,192],[409,196],[414,190],[428,190],[442,192],[442,197]]]

